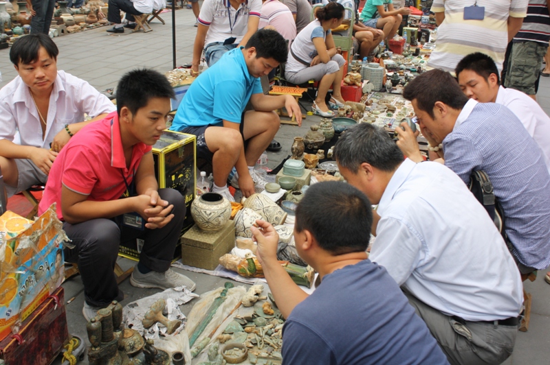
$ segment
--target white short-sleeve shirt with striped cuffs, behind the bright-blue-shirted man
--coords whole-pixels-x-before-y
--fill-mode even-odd
[[[235,10],[229,0],[204,0],[199,13],[199,23],[206,25],[208,32],[204,45],[214,42],[222,42],[230,37],[235,37],[238,44],[248,30],[248,17],[260,17],[262,9],[261,0],[246,0]]]

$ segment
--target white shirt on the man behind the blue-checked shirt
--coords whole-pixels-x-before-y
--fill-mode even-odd
[[[550,172],[550,117],[544,113],[536,101],[515,89],[499,86],[495,102],[509,108],[520,119],[529,135],[542,150],[544,163]]]

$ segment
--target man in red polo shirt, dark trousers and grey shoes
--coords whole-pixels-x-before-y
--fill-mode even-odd
[[[50,170],[39,213],[57,203],[74,245],[65,248],[65,261],[78,263],[87,320],[124,298],[113,271],[121,240],[142,246],[131,285],[195,290],[195,283],[170,270],[185,198],[174,189],[159,189],[153,170],[151,146],[166,129],[172,97],[160,73],[126,73],[117,88],[117,111],[70,139]],[[129,197],[122,198],[126,190]]]

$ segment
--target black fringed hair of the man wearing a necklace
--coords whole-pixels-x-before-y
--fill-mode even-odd
[[[47,34],[36,33],[16,38],[10,49],[10,61],[16,66],[19,66],[19,62],[22,64],[36,62],[39,59],[40,47],[44,47],[47,55],[57,60],[59,49],[52,38]]]

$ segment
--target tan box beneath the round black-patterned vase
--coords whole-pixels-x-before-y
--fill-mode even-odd
[[[208,233],[195,225],[181,236],[181,263],[214,270],[219,258],[235,246],[235,224],[229,220],[220,231]]]

